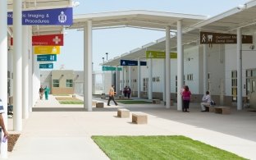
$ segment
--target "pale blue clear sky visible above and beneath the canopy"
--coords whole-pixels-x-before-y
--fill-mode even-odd
[[[87,14],[106,11],[148,10],[167,11],[203,16],[216,16],[238,7],[248,0],[75,0],[80,5],[74,7],[73,14]],[[144,44],[155,42],[165,36],[165,31],[119,28],[93,30],[93,70],[101,71],[100,63],[106,59],[129,53]],[[64,46],[57,55],[54,69],[84,70],[84,32],[65,30]],[[108,53],[108,56],[106,55]]]

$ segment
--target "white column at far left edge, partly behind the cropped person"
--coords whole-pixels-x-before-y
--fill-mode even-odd
[[[0,1],[0,98],[7,113],[7,1]],[[6,129],[7,114],[2,114]],[[7,158],[7,143],[1,144],[1,159]]]

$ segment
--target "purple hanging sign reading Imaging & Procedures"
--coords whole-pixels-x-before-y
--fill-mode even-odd
[[[12,12],[7,13],[7,24],[12,25]],[[22,25],[72,25],[73,8],[53,8],[22,11]]]

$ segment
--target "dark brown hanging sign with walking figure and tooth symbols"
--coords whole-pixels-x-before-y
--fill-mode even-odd
[[[200,32],[201,44],[237,43],[236,34]],[[253,43],[252,35],[242,35],[242,43]]]

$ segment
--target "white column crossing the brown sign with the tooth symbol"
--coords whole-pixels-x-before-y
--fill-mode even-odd
[[[242,110],[242,34],[241,29],[237,29],[237,110]]]

